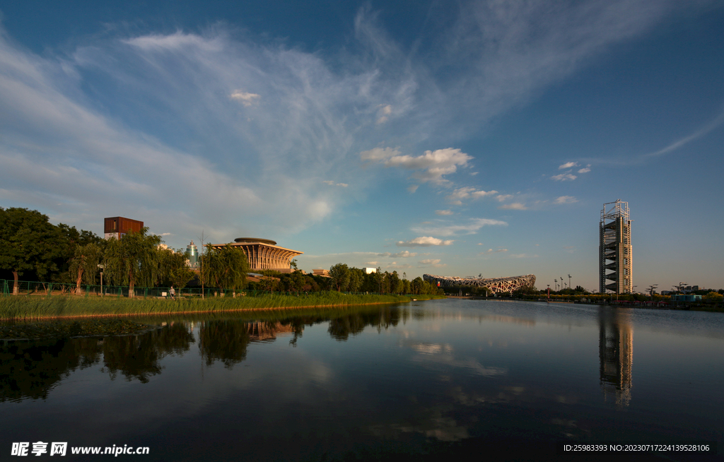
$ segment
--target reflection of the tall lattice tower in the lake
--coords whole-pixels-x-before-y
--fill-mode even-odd
[[[631,315],[621,309],[599,311],[601,388],[604,397],[615,396],[616,404],[631,401],[631,365],[633,364],[633,328]]]

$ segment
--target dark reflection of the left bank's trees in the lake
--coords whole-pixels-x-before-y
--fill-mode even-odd
[[[394,306],[359,307],[320,311],[271,320],[201,320],[199,351],[207,365],[222,362],[231,369],[246,359],[251,342],[275,341],[292,335],[294,346],[306,326],[329,322],[328,332],[338,341],[361,333],[367,326],[378,330],[396,326],[411,317],[411,310]],[[50,341],[12,341],[0,347],[0,401],[46,399],[71,372],[101,365],[111,380],[125,377],[147,383],[161,374],[161,360],[183,355],[195,343],[193,325],[182,320],[138,335],[65,338]]]

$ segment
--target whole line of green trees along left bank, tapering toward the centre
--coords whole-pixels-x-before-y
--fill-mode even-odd
[[[195,286],[219,288],[228,293],[243,288],[260,291],[368,292],[379,294],[442,294],[436,285],[415,278],[409,281],[397,271],[366,273],[359,268],[337,263],[329,277],[301,271],[279,273],[262,271],[261,278],[248,283],[249,265],[239,247],[206,245],[202,249],[200,271],[190,270],[182,249],[162,246],[159,236],[148,228],[128,233],[122,239],[102,239],[92,231],[64,223],[54,225],[47,215],[25,208],[0,208],[0,279],[14,281],[18,293],[21,277],[25,281],[43,281],[75,285],[98,285],[103,272],[104,284],[127,286],[132,296],[135,287],[183,288]],[[296,262],[292,261],[292,268]]]

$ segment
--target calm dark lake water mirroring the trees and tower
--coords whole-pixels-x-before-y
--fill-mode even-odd
[[[556,442],[598,441],[724,453],[720,313],[446,299],[246,316],[0,346],[0,460],[38,441],[148,447],[118,456],[142,461],[549,460]]]

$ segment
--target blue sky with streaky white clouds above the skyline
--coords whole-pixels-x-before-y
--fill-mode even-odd
[[[170,247],[724,288],[720,1],[0,0],[0,207]],[[92,5],[89,7],[89,5]]]

